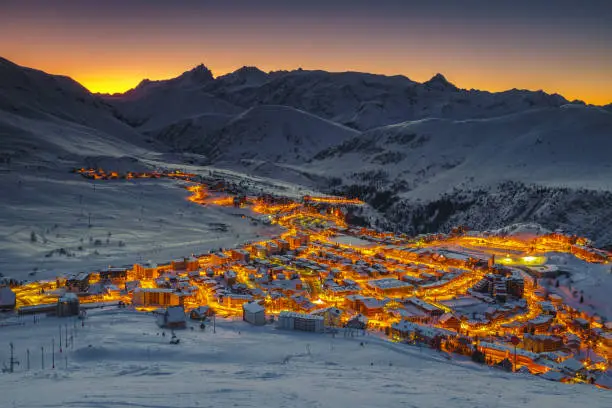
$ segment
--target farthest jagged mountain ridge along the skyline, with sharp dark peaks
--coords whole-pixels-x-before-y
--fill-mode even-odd
[[[105,99],[129,121],[148,130],[160,120],[180,121],[194,113],[227,114],[232,108],[257,105],[291,106],[366,130],[429,117],[488,118],[569,103],[560,95],[541,91],[459,89],[441,74],[417,83],[401,75],[301,69],[265,73],[243,67],[214,79],[203,66],[174,79],[145,81],[123,95]]]

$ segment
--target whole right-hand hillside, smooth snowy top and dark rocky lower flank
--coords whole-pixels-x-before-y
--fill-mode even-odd
[[[335,175],[411,233],[538,222],[612,242],[612,115],[567,105],[486,120],[381,127],[319,153]],[[303,167],[306,168],[306,167]]]

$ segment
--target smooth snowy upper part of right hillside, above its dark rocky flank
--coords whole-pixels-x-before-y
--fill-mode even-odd
[[[611,189],[612,114],[566,105],[492,119],[426,119],[385,126],[321,152],[312,167],[355,178],[382,172],[405,195],[505,180]]]

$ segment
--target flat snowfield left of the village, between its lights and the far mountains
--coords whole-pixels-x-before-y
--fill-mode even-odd
[[[92,165],[145,168],[106,160]],[[190,193],[175,181],[92,182],[62,169],[14,166],[0,173],[0,187],[0,273],[15,279],[167,262],[278,234],[243,220],[240,210],[186,201]]]

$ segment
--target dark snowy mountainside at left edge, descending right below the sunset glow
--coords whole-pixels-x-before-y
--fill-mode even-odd
[[[57,159],[144,153],[143,136],[76,81],[0,59],[0,157]]]

